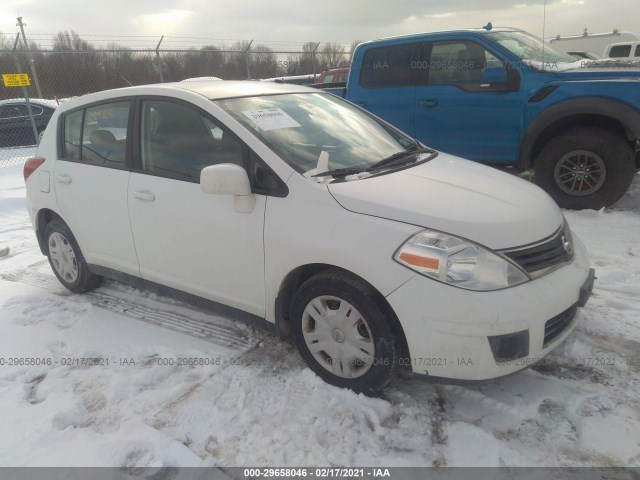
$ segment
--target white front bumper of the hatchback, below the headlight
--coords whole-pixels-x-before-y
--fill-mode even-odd
[[[574,236],[571,263],[516,287],[474,292],[416,275],[387,297],[415,373],[485,380],[542,359],[576,326],[593,288],[593,269]]]

